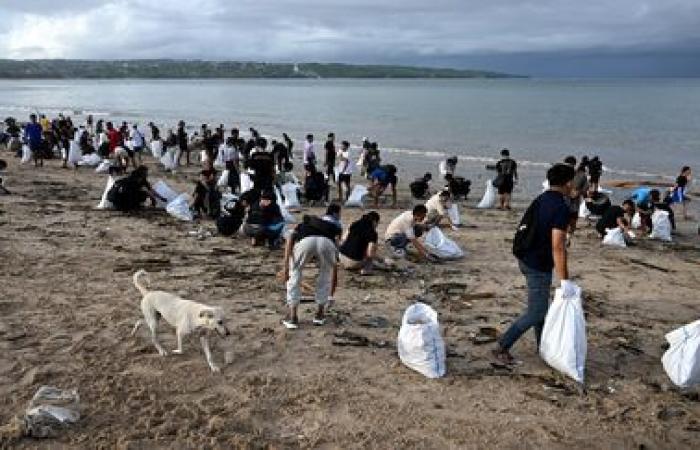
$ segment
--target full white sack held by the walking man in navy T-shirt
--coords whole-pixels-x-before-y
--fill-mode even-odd
[[[565,298],[562,289],[554,293],[544,320],[540,356],[551,367],[583,383],[586,367],[586,319],[581,306],[581,288]]]

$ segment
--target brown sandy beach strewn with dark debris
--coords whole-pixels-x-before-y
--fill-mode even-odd
[[[700,391],[674,388],[660,362],[664,334],[700,316],[695,222],[681,221],[673,244],[640,240],[623,250],[601,247],[582,224],[570,249],[587,315],[580,392],[539,359],[530,334],[513,349],[524,361],[513,371],[492,366],[493,344],[484,342],[523,308],[511,240],[525,197],[512,212],[477,210],[483,187],[475,184],[461,205],[475,228],[448,233],[464,259],[405,262],[368,277],[341,271],[329,323],[312,326],[313,304],[303,304],[301,327],[290,332],[279,323],[280,251],[189,234],[214,231],[210,221],[95,210],[106,176],[94,169],[58,161],[35,169],[2,157],[13,195],[0,196],[0,424],[23,413],[42,385],[75,388],[83,405],[80,422],[52,439],[16,439],[6,426],[3,448],[697,446]],[[151,181],[191,192],[198,168],[173,176],[148,165]],[[405,191],[401,203],[411,204]],[[380,210],[380,236],[398,212]],[[344,224],[360,214],[344,210]],[[141,268],[154,288],[225,310],[233,335],[213,348],[221,374],[210,373],[195,339],[184,355],[161,357],[145,330],[129,336],[140,318],[131,276]],[[442,379],[397,356],[401,315],[419,298],[439,313]],[[160,330],[174,348],[172,328]]]

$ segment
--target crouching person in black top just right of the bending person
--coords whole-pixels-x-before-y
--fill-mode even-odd
[[[362,275],[371,272],[377,255],[377,226],[379,214],[370,211],[350,225],[340,246],[340,264],[346,270],[358,270]]]

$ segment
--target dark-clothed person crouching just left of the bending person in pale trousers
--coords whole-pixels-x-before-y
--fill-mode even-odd
[[[263,191],[260,200],[250,207],[243,232],[251,238],[253,246],[263,245],[267,241],[270,249],[277,249],[281,243],[283,229],[284,218],[275,194]]]

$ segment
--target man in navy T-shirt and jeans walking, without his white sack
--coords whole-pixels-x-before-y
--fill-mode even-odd
[[[530,328],[535,329],[537,348],[544,319],[549,309],[549,288],[552,269],[561,280],[565,297],[574,295],[576,285],[569,280],[566,253],[566,231],[569,208],[565,198],[570,195],[574,169],[555,164],[547,171],[549,190],[540,194],[528,207],[513,241],[513,253],[527,284],[527,309],[505,332],[493,350],[494,357],[504,364],[515,359],[510,349]]]

